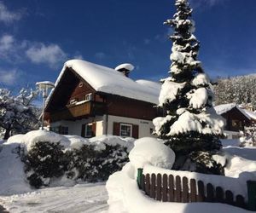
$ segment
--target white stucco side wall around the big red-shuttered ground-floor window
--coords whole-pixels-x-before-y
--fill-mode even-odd
[[[139,135],[138,135],[139,138],[152,136],[150,134],[150,128],[152,128],[154,130],[154,124],[152,123],[152,121],[108,115],[108,135],[113,135],[113,123],[114,122],[138,125],[139,126]]]

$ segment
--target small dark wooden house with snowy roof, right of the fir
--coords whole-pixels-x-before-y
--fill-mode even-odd
[[[214,109],[226,120],[224,133],[228,139],[239,138],[241,136],[240,131],[243,131],[245,126],[250,126],[256,122],[255,112],[242,109],[235,103],[218,105]]]

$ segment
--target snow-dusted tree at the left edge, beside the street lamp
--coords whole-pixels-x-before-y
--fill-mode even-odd
[[[21,89],[18,95],[11,95],[9,89],[0,89],[0,129],[3,139],[10,134],[26,133],[38,128],[38,108],[32,105],[38,91]]]

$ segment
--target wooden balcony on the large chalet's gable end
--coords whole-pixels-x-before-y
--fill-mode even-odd
[[[58,112],[50,112],[50,122],[59,120],[75,120],[88,118],[96,115],[103,115],[106,111],[106,104],[96,101],[87,101],[79,105],[70,105]]]

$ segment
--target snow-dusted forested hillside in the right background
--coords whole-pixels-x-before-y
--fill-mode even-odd
[[[236,103],[256,110],[256,74],[234,78],[218,78],[214,87],[215,105]]]

